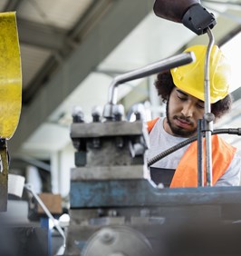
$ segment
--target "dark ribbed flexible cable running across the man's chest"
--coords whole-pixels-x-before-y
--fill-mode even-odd
[[[221,134],[221,133],[235,134],[235,135],[240,136],[241,135],[241,128],[217,129],[217,130],[214,130],[212,132],[212,135]],[[205,134],[203,134],[203,137],[205,137]],[[193,136],[191,138],[188,138],[186,141],[178,143],[177,145],[169,148],[168,150],[163,151],[162,153],[159,153],[158,155],[154,156],[153,158],[151,158],[148,161],[148,167],[150,165],[152,165],[153,163],[158,162],[160,159],[166,157],[170,153],[174,153],[175,151],[177,151],[180,148],[183,148],[184,146],[188,145],[189,143],[193,143],[193,142],[197,141],[197,139],[198,139],[197,135]]]

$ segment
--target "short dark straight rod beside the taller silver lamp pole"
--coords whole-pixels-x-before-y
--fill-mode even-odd
[[[204,186],[202,119],[198,119],[198,187]]]

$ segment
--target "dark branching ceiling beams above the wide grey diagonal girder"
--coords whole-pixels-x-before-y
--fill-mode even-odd
[[[38,94],[38,90],[43,86],[43,81],[49,79],[60,62],[64,62],[74,48],[84,40],[86,34],[90,33],[95,25],[98,25],[101,17],[108,12],[111,5],[113,5],[112,0],[93,2],[84,15],[81,15],[68,34],[65,31],[58,31],[53,27],[33,23],[29,24],[27,21],[19,20],[21,43],[52,50],[50,58],[43,64],[39,72],[35,74],[31,83],[25,86],[22,102],[24,105],[29,104],[34,99],[35,94]],[[51,33],[52,31],[53,33]]]

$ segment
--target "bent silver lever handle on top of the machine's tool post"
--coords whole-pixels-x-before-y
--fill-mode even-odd
[[[159,72],[169,70],[180,65],[189,64],[192,63],[194,60],[195,55],[192,52],[187,52],[171,56],[157,63],[149,64],[140,69],[136,69],[125,74],[117,75],[113,79],[109,87],[108,103],[104,107],[103,116],[106,118],[112,117],[112,106],[117,103],[117,86],[119,84],[123,84],[125,82],[135,79],[140,79],[150,74],[157,74]]]

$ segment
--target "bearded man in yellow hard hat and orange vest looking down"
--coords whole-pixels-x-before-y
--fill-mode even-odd
[[[167,110],[165,118],[148,122],[148,159],[196,135],[198,119],[203,118],[207,46],[194,45],[186,51],[194,52],[196,61],[159,74],[155,82],[162,101],[167,103]],[[228,94],[230,67],[217,45],[214,45],[210,54],[209,70],[211,112],[217,121],[230,110],[232,102]],[[236,154],[236,148],[217,135],[212,135],[212,162],[213,185],[239,185],[241,158]],[[150,175],[154,182],[162,182],[165,187],[197,187],[197,142],[155,162],[150,166]]]

